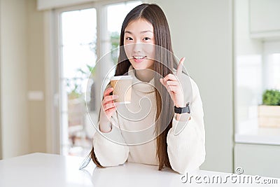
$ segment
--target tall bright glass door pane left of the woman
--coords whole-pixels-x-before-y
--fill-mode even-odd
[[[90,112],[97,111],[94,95],[85,98],[87,81],[92,81],[94,89],[89,76],[93,76],[97,60],[97,13],[95,8],[87,8],[59,16],[60,153],[85,155],[90,152],[93,132],[86,106]]]

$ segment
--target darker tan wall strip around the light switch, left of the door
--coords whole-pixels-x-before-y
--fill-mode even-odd
[[[43,12],[36,10],[36,0],[27,0],[27,89],[43,93],[42,99],[29,99],[30,151],[46,151],[45,65]]]

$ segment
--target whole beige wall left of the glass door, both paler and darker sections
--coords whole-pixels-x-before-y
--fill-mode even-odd
[[[46,151],[45,99],[27,97],[29,91],[45,95],[43,32],[36,0],[1,0],[3,158]]]

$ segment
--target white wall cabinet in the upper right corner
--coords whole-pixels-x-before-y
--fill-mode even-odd
[[[257,39],[280,39],[280,1],[250,0],[250,34]]]

